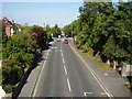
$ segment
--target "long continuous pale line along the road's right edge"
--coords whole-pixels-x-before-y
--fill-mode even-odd
[[[102,90],[107,94],[107,96],[110,99],[114,99],[113,95],[103,86],[103,84],[101,82],[101,80],[99,79],[99,77],[96,75],[96,73],[92,70],[92,68],[89,65],[87,65],[86,61],[84,58],[81,58],[81,56],[77,53],[77,51],[74,50],[73,45],[70,45],[70,47],[73,48],[73,51],[75,52],[75,54],[84,62],[84,64],[86,65],[86,67],[88,68],[88,70],[91,73],[91,75],[94,76],[94,78],[96,79],[96,81],[99,84],[99,86],[102,88]]]

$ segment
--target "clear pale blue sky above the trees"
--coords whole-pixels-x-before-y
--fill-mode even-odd
[[[82,2],[84,0],[2,0],[0,19],[7,16],[21,25],[48,24],[53,28],[58,24],[59,28],[64,28],[78,19]]]

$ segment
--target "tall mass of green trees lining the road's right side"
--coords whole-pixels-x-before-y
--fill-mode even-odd
[[[132,64],[132,2],[84,2],[79,19],[66,25],[82,51],[88,47],[110,61]]]

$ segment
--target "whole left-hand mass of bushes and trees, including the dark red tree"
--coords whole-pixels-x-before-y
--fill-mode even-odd
[[[19,25],[19,28],[21,31],[16,30],[16,34],[8,37],[4,26],[2,24],[0,26],[2,34],[2,85],[7,92],[11,92],[26,69],[33,66],[36,50],[43,48],[47,40],[51,41],[48,25],[45,31],[37,25]]]

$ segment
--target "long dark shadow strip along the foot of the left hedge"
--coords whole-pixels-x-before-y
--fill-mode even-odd
[[[41,50],[42,53],[36,53],[35,54],[35,59],[34,59],[34,63],[33,63],[32,67],[30,67],[26,70],[26,73],[22,76],[18,87],[15,89],[13,89],[12,99],[16,99],[19,97],[19,95],[21,92],[21,89],[28,82],[26,79],[29,78],[32,70],[40,65],[41,61],[44,61],[43,51],[47,51],[50,48],[50,46],[52,46],[52,45],[51,44],[45,44],[45,46]]]

